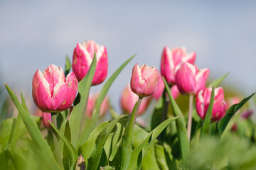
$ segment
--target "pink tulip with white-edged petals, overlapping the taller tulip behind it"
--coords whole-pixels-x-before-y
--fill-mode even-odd
[[[196,95],[205,89],[209,69],[198,69],[193,64],[185,62],[176,73],[176,85],[181,94]]]

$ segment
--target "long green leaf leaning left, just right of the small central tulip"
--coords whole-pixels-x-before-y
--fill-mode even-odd
[[[169,96],[170,102],[171,102],[171,108],[175,116],[181,116],[182,112],[181,109],[178,108],[178,105],[176,101],[174,100],[174,97],[171,96],[171,91],[169,89],[169,86],[166,82],[166,79],[162,77],[164,80],[164,85],[167,91],[167,94]],[[179,118],[176,121],[176,129],[177,129],[177,135],[178,135],[178,147],[181,152],[181,157],[184,163],[187,162],[188,153],[189,153],[189,142],[188,142],[188,135],[186,131],[186,126],[183,117]]]

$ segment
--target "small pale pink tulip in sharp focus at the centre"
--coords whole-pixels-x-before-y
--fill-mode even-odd
[[[132,69],[131,89],[138,96],[150,96],[156,91],[159,79],[160,74],[156,67],[149,67],[145,64],[139,67],[135,64]]]

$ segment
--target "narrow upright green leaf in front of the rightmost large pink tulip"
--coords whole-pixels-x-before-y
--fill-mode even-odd
[[[210,103],[206,112],[206,117],[203,120],[203,127],[202,127],[202,132],[203,133],[209,133],[209,128],[210,128],[210,120],[213,114],[213,103],[214,103],[214,98],[215,98],[215,90],[214,86],[210,95]]]

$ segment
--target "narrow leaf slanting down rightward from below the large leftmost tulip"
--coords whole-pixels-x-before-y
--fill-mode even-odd
[[[60,139],[64,142],[65,146],[68,148],[68,151],[70,152],[70,162],[71,162],[70,169],[74,169],[75,162],[78,160],[78,153],[75,151],[75,148],[67,140],[67,138],[58,130],[58,128],[56,128],[55,125],[53,125],[53,123],[51,123],[49,120],[48,122],[52,126],[53,130],[55,130],[55,132],[58,134]]]

